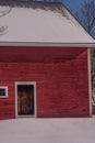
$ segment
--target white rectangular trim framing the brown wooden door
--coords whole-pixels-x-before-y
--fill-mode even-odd
[[[19,116],[17,114],[17,85],[32,85],[34,86],[34,114],[33,116]],[[36,82],[35,81],[15,81],[15,118],[22,117],[37,117],[36,103]]]

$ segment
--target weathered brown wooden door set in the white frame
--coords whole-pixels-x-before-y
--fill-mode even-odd
[[[17,114],[34,114],[34,86],[17,85]]]

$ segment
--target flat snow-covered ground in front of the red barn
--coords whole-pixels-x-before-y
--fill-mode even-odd
[[[95,143],[95,118],[0,121],[0,143]]]

